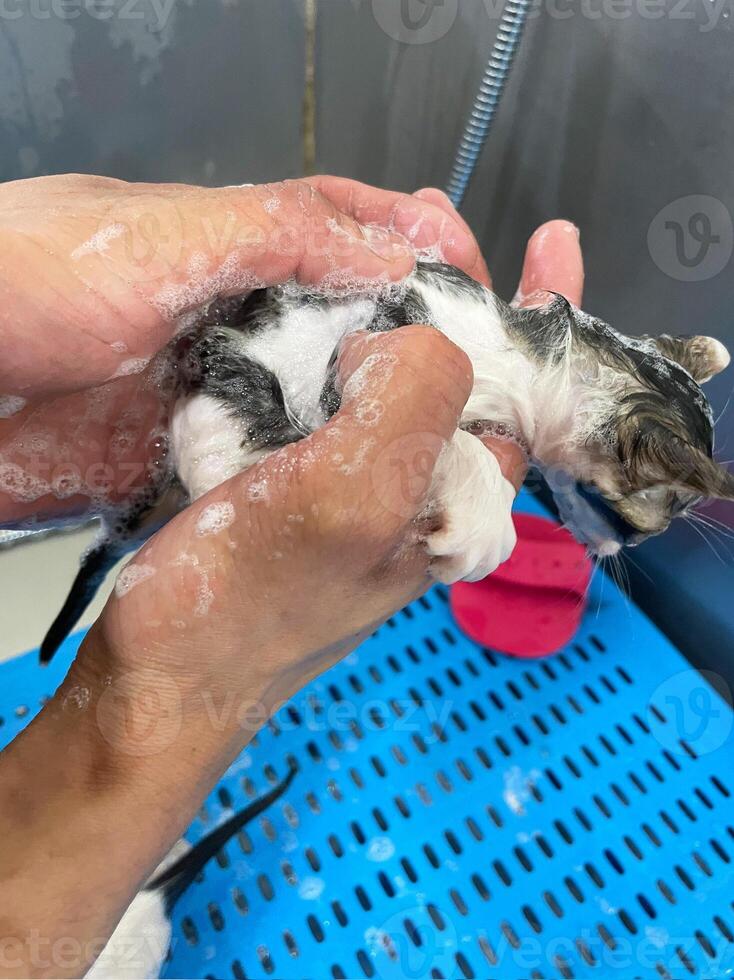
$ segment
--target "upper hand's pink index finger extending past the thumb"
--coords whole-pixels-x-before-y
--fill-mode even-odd
[[[363,225],[388,227],[403,235],[417,250],[435,250],[443,261],[456,265],[468,275],[481,275],[481,256],[476,239],[464,220],[445,199],[378,190],[343,177],[310,177],[319,190],[340,211]],[[440,191],[438,192],[441,193]]]

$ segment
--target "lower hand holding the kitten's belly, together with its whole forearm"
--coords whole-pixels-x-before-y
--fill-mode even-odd
[[[531,239],[526,293],[543,285],[580,300],[568,229]],[[0,758],[17,952],[7,975],[83,973],[282,699],[429,584],[423,504],[469,394],[468,361],[438,332],[407,327],[355,338],[339,373],[329,425],[217,487],[143,548],[56,696]],[[518,485],[519,451],[485,441]],[[35,935],[74,943],[76,959],[39,964]]]

